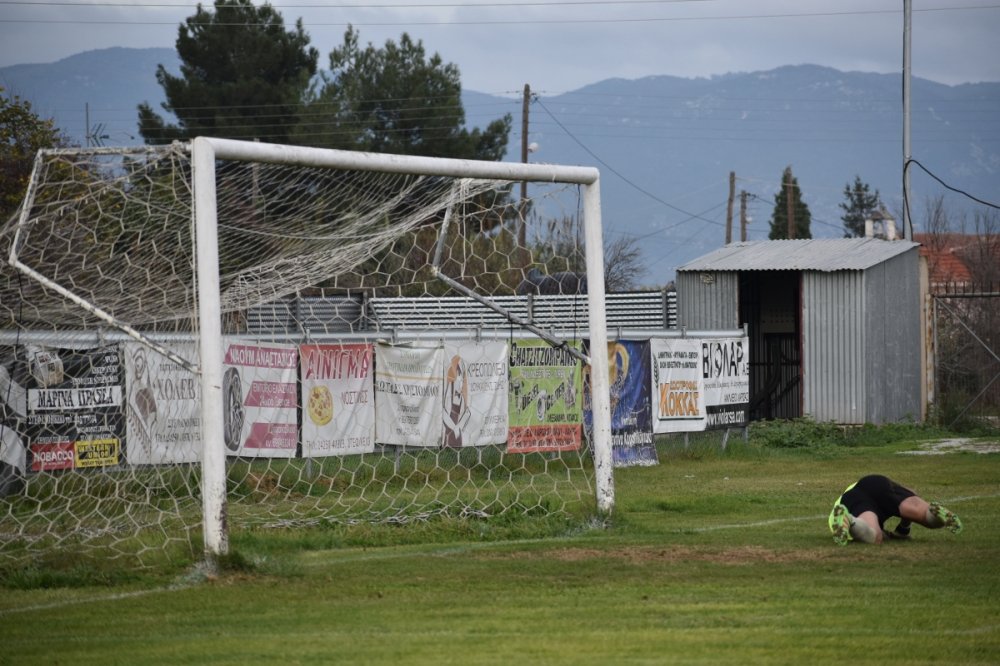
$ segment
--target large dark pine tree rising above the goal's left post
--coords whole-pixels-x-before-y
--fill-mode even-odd
[[[316,73],[319,52],[310,48],[302,20],[294,31],[273,7],[250,0],[215,0],[178,29],[181,76],[163,65],[169,124],[148,103],[139,105],[139,132],[149,144],[213,136],[288,143],[302,100]]]

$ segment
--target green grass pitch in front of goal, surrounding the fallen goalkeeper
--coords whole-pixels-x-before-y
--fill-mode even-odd
[[[0,664],[998,664],[1000,453],[906,453],[926,436],[666,442],[616,470],[605,524],[249,533],[215,575],[7,570]],[[965,530],[835,546],[830,505],[870,472]]]

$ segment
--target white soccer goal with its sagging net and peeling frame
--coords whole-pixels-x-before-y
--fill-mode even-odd
[[[596,169],[48,150],[0,242],[0,558],[613,508]]]

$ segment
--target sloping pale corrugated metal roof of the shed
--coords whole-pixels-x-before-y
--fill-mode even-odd
[[[731,243],[678,271],[863,271],[918,247],[879,238],[813,238]]]

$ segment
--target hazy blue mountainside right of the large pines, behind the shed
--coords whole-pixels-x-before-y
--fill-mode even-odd
[[[741,190],[749,193],[749,238],[767,237],[787,165],[812,213],[814,237],[843,235],[839,204],[856,175],[901,217],[900,88],[898,75],[809,65],[708,79],[606,80],[532,104],[530,139],[539,149],[530,159],[600,168],[606,235],[640,237],[650,280],[662,283],[658,276],[672,276],[724,242],[730,171],[737,176],[734,239]],[[912,157],[948,185],[996,203],[1000,83],[913,79],[911,108]],[[519,102],[508,101],[507,109],[520,118]],[[519,155],[512,146],[511,157]],[[953,218],[965,215],[970,225],[985,210],[915,165],[910,176],[918,230],[930,196],[946,194]]]

